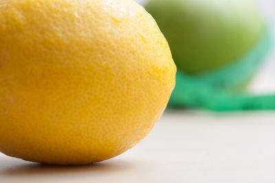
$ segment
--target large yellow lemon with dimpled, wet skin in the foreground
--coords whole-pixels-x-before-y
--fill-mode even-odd
[[[162,115],[176,68],[128,0],[0,3],[0,151],[88,164],[133,147]]]

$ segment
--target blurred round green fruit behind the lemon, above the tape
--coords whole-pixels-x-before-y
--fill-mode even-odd
[[[187,74],[236,61],[264,30],[250,0],[151,0],[146,10],[166,37],[177,67]]]

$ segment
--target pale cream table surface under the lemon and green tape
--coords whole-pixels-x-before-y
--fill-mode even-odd
[[[153,131],[116,158],[49,166],[0,154],[0,182],[274,183],[275,113],[166,111]]]

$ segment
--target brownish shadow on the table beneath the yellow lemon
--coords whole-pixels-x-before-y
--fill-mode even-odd
[[[131,171],[134,164],[123,160],[109,160],[105,162],[87,164],[82,166],[49,165],[34,162],[26,162],[17,158],[0,158],[0,180],[48,177],[74,177],[77,175],[89,175],[89,177],[106,175],[111,173],[124,173]],[[23,181],[23,180],[22,180]],[[1,182],[1,181],[0,181]]]

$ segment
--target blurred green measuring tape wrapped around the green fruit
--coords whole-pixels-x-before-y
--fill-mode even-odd
[[[270,50],[272,36],[265,29],[261,39],[233,64],[203,74],[188,75],[177,70],[170,107],[201,107],[213,111],[275,109],[275,94],[252,96],[234,88],[248,83]]]

